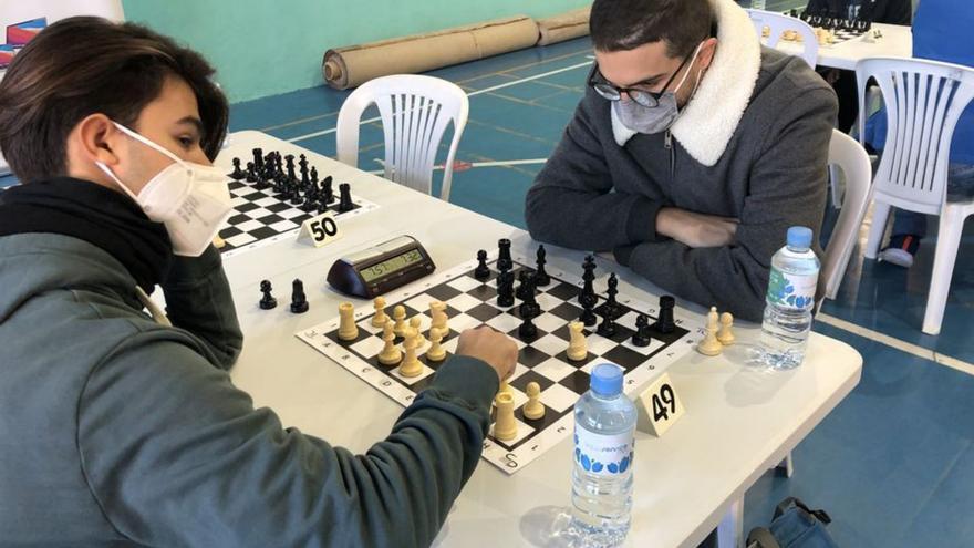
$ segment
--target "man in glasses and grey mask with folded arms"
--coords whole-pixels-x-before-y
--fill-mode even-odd
[[[786,230],[821,227],[835,93],[761,48],[733,0],[595,0],[590,24],[595,63],[528,193],[531,236],[759,320]]]

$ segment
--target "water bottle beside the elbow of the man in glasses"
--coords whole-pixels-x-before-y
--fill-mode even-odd
[[[771,257],[761,322],[761,360],[775,369],[801,365],[821,263],[811,248],[811,229],[791,227],[788,242]]]

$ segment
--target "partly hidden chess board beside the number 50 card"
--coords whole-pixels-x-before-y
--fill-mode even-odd
[[[229,182],[230,197],[235,214],[227,220],[227,226],[220,230],[220,237],[227,242],[222,248],[224,257],[256,249],[268,244],[280,241],[284,238],[297,238],[301,224],[319,215],[318,210],[304,211],[300,205],[292,205],[281,199],[273,188],[258,190],[252,183],[245,180]],[[338,185],[335,185],[338,189]],[[329,206],[329,211],[335,215],[341,223],[377,209],[379,206],[364,198],[352,194],[354,208],[351,211],[339,213],[338,195],[335,201]]]

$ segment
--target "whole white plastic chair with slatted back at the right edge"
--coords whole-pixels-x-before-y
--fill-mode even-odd
[[[946,200],[951,142],[961,113],[974,99],[974,69],[920,59],[866,59],[856,65],[859,103],[874,77],[887,105],[887,142],[873,185],[872,227],[866,257],[874,259],[890,218],[890,207],[940,216],[940,235],[923,332],[940,333],[947,292],[974,200]],[[860,110],[859,126],[866,127]],[[860,135],[864,132],[860,132]],[[860,137],[862,138],[862,137]]]

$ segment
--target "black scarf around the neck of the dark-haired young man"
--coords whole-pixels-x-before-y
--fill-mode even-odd
[[[71,177],[15,186],[0,194],[0,236],[52,232],[96,246],[151,293],[173,260],[166,227],[128,196]]]

